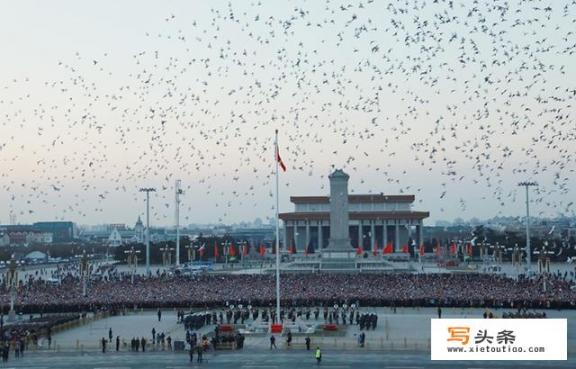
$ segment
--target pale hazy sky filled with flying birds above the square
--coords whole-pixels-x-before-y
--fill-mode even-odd
[[[441,219],[574,215],[573,1],[0,3],[0,223],[274,217],[414,194]]]

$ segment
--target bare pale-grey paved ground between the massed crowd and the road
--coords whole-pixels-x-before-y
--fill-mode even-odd
[[[385,350],[385,351],[427,351],[430,339],[430,319],[437,317],[435,308],[398,308],[396,313],[391,308],[361,308],[363,313],[378,314],[378,326],[375,330],[364,331],[366,333],[366,345],[361,349],[357,345],[357,335],[360,333],[356,325],[346,326],[345,334],[339,336],[312,335],[312,345],[321,344],[339,350]],[[483,309],[475,308],[444,308],[443,318],[481,318]],[[494,310],[496,316],[502,311]],[[576,311],[572,310],[546,310],[550,318],[568,319],[568,350],[576,352]],[[310,322],[313,322],[313,316]],[[318,323],[323,323],[320,318]],[[76,327],[57,333],[53,337],[52,348],[60,351],[92,351],[99,350],[102,337],[108,337],[108,329],[112,328],[114,339],[117,335],[121,340],[125,339],[129,345],[133,336],[151,339],[152,328],[156,332],[164,332],[171,336],[173,341],[183,340],[185,337],[184,327],[176,323],[176,313],[173,310],[163,310],[162,321],[158,322],[156,311],[144,311],[130,313],[126,316],[114,316],[94,321],[84,326]],[[204,327],[199,333],[204,334],[212,331],[214,326]],[[304,348],[304,334],[293,331],[292,350]],[[248,335],[245,341],[245,349],[268,349],[270,344],[269,334]],[[279,350],[286,349],[285,338],[277,335]]]

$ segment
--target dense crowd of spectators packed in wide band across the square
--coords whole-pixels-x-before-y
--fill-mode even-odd
[[[495,274],[452,273],[291,273],[281,277],[286,306],[333,306],[357,302],[361,306],[454,306],[502,308],[574,308],[574,281],[562,275],[507,278]],[[8,306],[9,291],[0,288],[0,304]],[[109,274],[92,280],[87,294],[77,276],[61,283],[31,277],[18,288],[20,312],[64,312],[133,307],[206,307],[226,303],[271,306],[275,301],[273,275],[205,274],[177,277],[159,273],[128,278]],[[5,311],[4,313],[6,313]],[[246,317],[236,315],[232,321]]]

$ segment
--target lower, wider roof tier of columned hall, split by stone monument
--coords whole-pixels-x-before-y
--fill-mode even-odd
[[[348,218],[351,220],[388,220],[388,219],[414,219],[428,218],[427,211],[351,211]],[[280,213],[280,219],[286,220],[330,220],[330,213],[323,211]]]

